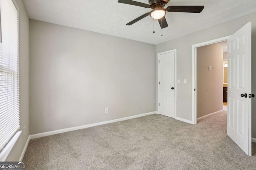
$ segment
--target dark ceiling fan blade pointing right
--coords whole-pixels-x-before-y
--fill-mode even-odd
[[[200,13],[204,9],[204,6],[168,6],[167,12],[190,12]]]

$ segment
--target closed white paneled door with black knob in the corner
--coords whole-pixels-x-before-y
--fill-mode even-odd
[[[158,113],[174,118],[175,50],[158,54]]]

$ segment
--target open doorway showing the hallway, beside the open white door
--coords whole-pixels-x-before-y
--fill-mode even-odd
[[[228,42],[196,48],[197,121],[227,111]]]

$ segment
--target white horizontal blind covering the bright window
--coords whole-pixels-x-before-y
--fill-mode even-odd
[[[20,129],[18,11],[0,0],[0,152]]]

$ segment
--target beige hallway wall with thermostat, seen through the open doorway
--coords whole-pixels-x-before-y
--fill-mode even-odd
[[[212,70],[208,67],[212,66]],[[197,117],[223,109],[223,47],[219,43],[197,48]]]

